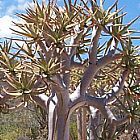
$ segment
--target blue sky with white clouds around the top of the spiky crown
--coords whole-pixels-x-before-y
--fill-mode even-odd
[[[61,4],[62,1],[58,0],[58,3]],[[110,5],[114,1],[115,0],[106,0],[106,4]],[[0,38],[12,36],[12,32],[9,30],[9,28],[12,27],[11,21],[16,22],[19,20],[14,14],[27,8],[28,4],[32,5],[32,0],[0,0]],[[119,7],[124,6],[124,11],[128,13],[125,22],[140,15],[140,0],[119,0]],[[133,27],[140,30],[140,20],[138,20]]]

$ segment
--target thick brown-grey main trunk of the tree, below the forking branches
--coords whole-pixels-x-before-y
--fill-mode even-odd
[[[56,138],[54,140],[69,140],[69,91],[63,87],[63,81],[56,80],[58,80],[59,86],[53,86],[58,98],[56,105]]]

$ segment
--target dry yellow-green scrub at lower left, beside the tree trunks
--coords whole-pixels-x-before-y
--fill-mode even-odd
[[[32,138],[32,129],[39,129],[39,124],[34,119],[33,113],[27,110],[17,110],[0,115],[0,140],[16,140],[21,136]],[[34,136],[35,137],[35,136]]]

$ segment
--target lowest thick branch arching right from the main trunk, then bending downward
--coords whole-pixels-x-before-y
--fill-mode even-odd
[[[127,72],[125,71],[123,73],[125,76],[127,76]],[[121,120],[118,120],[112,113],[112,111],[106,106],[105,98],[103,97],[94,97],[91,95],[85,95],[81,96],[79,98],[75,98],[69,105],[70,111],[74,111],[75,109],[82,107],[82,106],[92,106],[95,108],[93,110],[93,117],[95,117],[96,111],[99,110],[103,116],[108,120],[109,123],[109,133],[108,133],[108,139],[111,140],[112,136],[114,135],[114,132],[116,130],[116,127],[118,125],[122,125],[128,121],[128,117],[123,118]]]

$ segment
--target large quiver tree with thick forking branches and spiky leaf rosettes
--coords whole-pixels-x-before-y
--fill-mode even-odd
[[[111,140],[119,125],[139,116],[131,109],[139,100],[133,98],[139,94],[139,52],[133,39],[139,37],[130,29],[139,17],[123,24],[126,13],[117,8],[118,1],[107,10],[103,5],[102,0],[64,0],[64,7],[34,1],[34,8],[18,14],[23,20],[14,23],[19,30],[12,29],[24,44],[0,46],[1,108],[15,98],[21,100],[16,107],[40,105],[48,112],[48,140],[69,139],[75,111],[82,140]],[[114,106],[125,112],[122,119],[113,114]],[[108,124],[102,135],[96,119]]]

